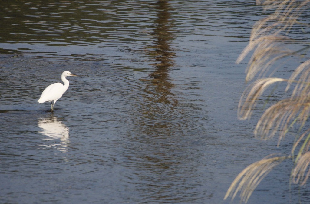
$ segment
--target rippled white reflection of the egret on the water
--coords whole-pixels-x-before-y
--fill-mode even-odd
[[[69,128],[66,127],[61,121],[56,117],[49,118],[40,118],[38,121],[38,126],[43,130],[39,133],[48,136],[44,140],[53,140],[55,142],[50,143],[49,145],[40,145],[45,148],[55,147],[61,152],[68,151],[69,143]],[[57,142],[60,140],[60,143]]]

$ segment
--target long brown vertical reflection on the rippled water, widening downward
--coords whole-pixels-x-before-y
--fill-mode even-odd
[[[150,202],[178,202],[184,200],[183,194],[178,192],[186,193],[195,188],[187,184],[187,179],[195,180],[196,175],[193,172],[195,167],[182,166],[188,160],[188,152],[180,141],[184,136],[185,117],[178,108],[177,96],[172,91],[175,85],[169,78],[175,56],[175,51],[170,47],[173,40],[170,12],[173,9],[164,0],[157,1],[155,9],[157,20],[152,34],[155,43],[148,47],[150,51],[147,53],[154,59],[154,71],[149,74],[149,79],[144,80],[146,87],[142,102],[137,107],[135,137],[128,148],[134,150],[136,155],[132,165],[139,175],[139,180],[135,182],[141,197]],[[186,178],[186,172],[193,173]],[[188,199],[193,200],[193,197]]]

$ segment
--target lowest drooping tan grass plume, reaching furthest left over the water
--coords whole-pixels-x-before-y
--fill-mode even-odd
[[[247,166],[232,182],[225,194],[224,200],[232,197],[232,200],[240,192],[241,202],[246,203],[254,189],[258,186],[261,180],[278,164],[280,164],[287,157],[268,157],[250,164]]]

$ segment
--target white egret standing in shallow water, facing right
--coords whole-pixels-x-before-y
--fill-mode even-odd
[[[69,81],[66,79],[66,77],[69,76],[78,76],[75,74],[72,74],[69,71],[64,71],[61,74],[61,80],[64,82],[64,85],[60,82],[51,84],[50,86],[47,86],[44,91],[42,92],[42,95],[38,102],[44,103],[46,101],[51,102],[51,111],[53,112],[54,105],[58,99],[61,98],[61,96],[64,94],[64,92],[67,91],[69,87]]]

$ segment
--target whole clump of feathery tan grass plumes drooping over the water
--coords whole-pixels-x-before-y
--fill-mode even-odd
[[[288,135],[293,126],[299,125],[299,131],[307,124],[310,114],[310,60],[301,58],[306,56],[310,46],[302,44],[300,39],[290,38],[294,33],[303,32],[310,28],[310,24],[299,22],[300,16],[308,17],[310,0],[256,0],[265,10],[273,9],[273,13],[259,20],[253,26],[248,46],[239,55],[236,63],[240,63],[252,53],[246,68],[246,82],[251,83],[243,92],[238,105],[238,118],[241,120],[251,117],[258,100],[271,85],[277,82],[287,82],[286,93],[292,87],[292,93],[287,99],[270,106],[259,119],[254,134],[262,139],[269,139],[276,135],[278,146],[280,141]],[[294,26],[294,27],[293,27]],[[298,42],[297,46],[290,46]],[[300,45],[305,45],[301,47]],[[288,47],[291,49],[288,49]],[[300,48],[301,47],[301,48]],[[292,50],[297,49],[297,50]],[[294,57],[294,58],[293,58]],[[295,69],[289,79],[272,77],[276,70],[288,60],[296,59],[303,62]],[[268,78],[265,78],[265,77]],[[294,183],[304,185],[310,176],[310,128],[298,136],[286,157],[269,156],[247,166],[232,182],[224,199],[232,200],[240,192],[241,202],[247,202],[259,182],[285,158],[294,157],[296,165],[292,170]]]

